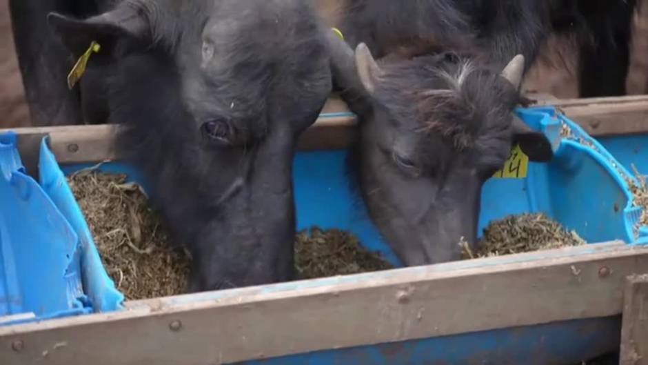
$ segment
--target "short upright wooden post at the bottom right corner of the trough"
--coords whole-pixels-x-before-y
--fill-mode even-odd
[[[648,273],[627,278],[620,365],[648,365]]]

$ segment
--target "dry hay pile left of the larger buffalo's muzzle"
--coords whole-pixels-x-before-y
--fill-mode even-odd
[[[125,175],[82,170],[68,177],[103,266],[126,299],[185,292],[188,256],[170,246],[159,215]]]

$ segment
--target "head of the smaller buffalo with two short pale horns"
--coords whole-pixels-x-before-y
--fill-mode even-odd
[[[328,39],[335,83],[360,119],[353,155],[369,216],[396,255],[412,266],[460,258],[462,239],[475,244],[481,188],[503,167],[512,146],[520,144],[531,161],[549,161],[553,152],[543,134],[512,113],[529,66],[527,57],[513,50],[534,57],[533,48],[512,46],[496,29],[471,33],[461,12],[446,21],[447,10],[421,8],[444,1],[405,3],[399,4],[418,6],[425,19],[439,14],[445,22],[435,23],[438,32],[432,36],[412,32],[400,40],[379,27],[357,36],[342,26],[348,43],[359,42],[355,50],[334,35]],[[363,24],[361,10],[347,17]],[[376,16],[392,19],[388,23],[396,32],[405,15],[394,10]],[[365,26],[372,19],[365,19]],[[421,26],[416,17],[407,23]],[[360,27],[355,21],[340,24]],[[378,61],[364,37],[378,48]],[[536,37],[529,32],[529,39]]]

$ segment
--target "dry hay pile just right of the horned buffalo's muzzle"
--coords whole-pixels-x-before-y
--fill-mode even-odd
[[[504,219],[492,221],[484,228],[484,237],[477,245],[477,252],[473,252],[465,241],[460,242],[465,259],[583,244],[586,244],[585,240],[576,232],[566,230],[542,213],[509,215]]]

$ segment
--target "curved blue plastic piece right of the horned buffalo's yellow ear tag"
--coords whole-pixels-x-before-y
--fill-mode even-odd
[[[529,209],[549,213],[590,242],[622,239],[628,244],[647,244],[648,227],[638,226],[642,208],[634,205],[629,187],[629,181],[638,184],[634,174],[554,108],[531,108],[518,114],[531,128],[542,130],[552,142],[560,142],[551,164],[537,166],[546,170],[550,186],[537,188],[543,184],[537,181],[544,179],[543,173],[529,173],[529,198],[534,203]],[[556,137],[561,124],[571,130],[569,138]],[[542,192],[549,196],[538,197]]]

